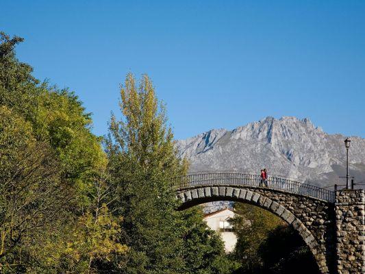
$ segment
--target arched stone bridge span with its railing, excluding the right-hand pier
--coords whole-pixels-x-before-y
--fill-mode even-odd
[[[204,173],[186,177],[176,190],[179,210],[209,201],[240,201],[258,206],[286,221],[310,248],[321,273],[333,271],[333,193],[287,179],[242,173]]]

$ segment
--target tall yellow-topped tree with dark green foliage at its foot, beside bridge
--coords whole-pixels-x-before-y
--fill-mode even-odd
[[[123,242],[129,247],[119,271],[220,273],[225,258],[221,240],[207,229],[201,213],[176,211],[172,186],[187,164],[177,157],[164,106],[147,75],[138,86],[127,75],[120,106],[123,118],[112,116],[105,142],[116,188],[113,208],[124,217]]]

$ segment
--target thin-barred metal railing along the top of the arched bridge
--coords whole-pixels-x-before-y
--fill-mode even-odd
[[[313,186],[311,184],[304,184],[302,182],[296,182],[294,180],[281,177],[268,177],[267,183],[268,186],[265,186],[260,175],[255,174],[238,172],[207,172],[189,174],[181,178],[175,186],[179,189],[212,185],[257,186],[275,190],[284,190],[286,192],[299,195],[307,195],[309,197],[323,199],[330,202],[335,201],[333,191]]]

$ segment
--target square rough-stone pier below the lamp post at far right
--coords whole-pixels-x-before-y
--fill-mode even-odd
[[[336,191],[338,273],[365,273],[365,190]]]

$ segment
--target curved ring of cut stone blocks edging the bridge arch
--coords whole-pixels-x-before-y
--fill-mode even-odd
[[[266,191],[266,193],[262,192],[262,190]],[[329,273],[324,252],[325,248],[318,243],[316,237],[304,224],[305,220],[301,220],[301,216],[295,216],[292,212],[295,211],[293,210],[293,207],[303,206],[293,203],[290,195],[287,193],[285,194],[287,199],[283,199],[282,197],[285,196],[283,196],[282,193],[276,197],[275,191],[272,192],[271,195],[268,195],[267,191],[268,190],[264,188],[238,188],[229,186],[205,186],[179,190],[177,192],[177,197],[182,203],[178,210],[184,210],[209,201],[240,201],[264,208],[279,216],[289,225],[292,225],[303,238],[305,244],[310,248],[310,251],[312,251],[321,273]],[[313,201],[310,202],[313,203]],[[323,201],[320,202],[323,203]]]

